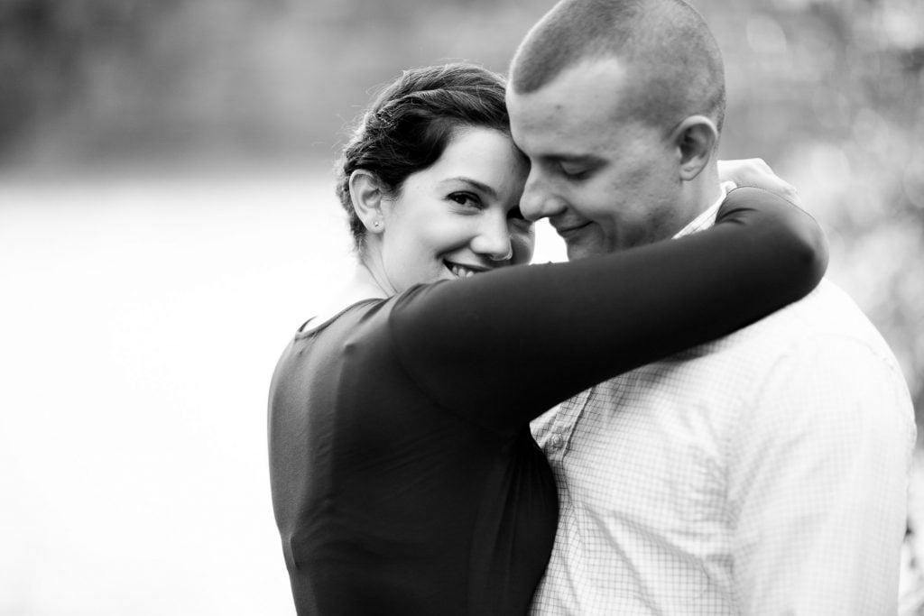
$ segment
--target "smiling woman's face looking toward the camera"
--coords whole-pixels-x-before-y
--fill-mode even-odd
[[[504,133],[457,129],[436,163],[409,175],[399,195],[383,202],[386,291],[529,263],[535,237],[519,211],[528,173]]]

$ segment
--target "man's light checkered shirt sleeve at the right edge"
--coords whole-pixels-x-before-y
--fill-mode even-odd
[[[831,336],[764,382],[731,443],[742,614],[894,614],[914,413],[894,363]]]

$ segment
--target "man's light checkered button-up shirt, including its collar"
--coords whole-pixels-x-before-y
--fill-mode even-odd
[[[561,506],[533,614],[896,611],[913,410],[833,284],[580,393],[533,432]]]

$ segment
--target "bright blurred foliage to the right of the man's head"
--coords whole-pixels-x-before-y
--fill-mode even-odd
[[[723,151],[760,155],[829,231],[831,276],[924,419],[924,3],[700,2],[723,45]],[[919,430],[920,431],[920,430]]]

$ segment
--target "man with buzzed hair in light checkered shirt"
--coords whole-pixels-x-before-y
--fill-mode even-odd
[[[710,226],[729,189],[723,80],[679,0],[559,3],[511,66],[524,214],[548,217],[569,259]],[[895,613],[913,412],[894,356],[833,284],[602,383],[534,432],[561,507],[534,613]]]

